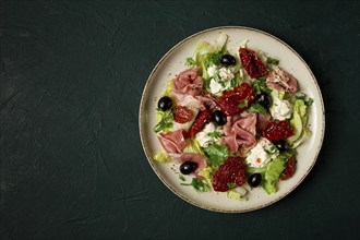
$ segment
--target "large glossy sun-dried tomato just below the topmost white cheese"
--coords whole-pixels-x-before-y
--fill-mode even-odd
[[[218,107],[226,116],[233,116],[248,109],[254,99],[254,89],[249,83],[243,82],[240,86],[235,87],[232,91],[226,92],[219,98]]]

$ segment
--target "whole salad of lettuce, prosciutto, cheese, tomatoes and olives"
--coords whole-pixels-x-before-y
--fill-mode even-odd
[[[297,147],[311,135],[312,99],[279,60],[248,40],[237,52],[227,43],[226,34],[200,41],[159,96],[154,133],[163,149],[153,159],[177,165],[180,184],[200,192],[272,194],[296,172]]]

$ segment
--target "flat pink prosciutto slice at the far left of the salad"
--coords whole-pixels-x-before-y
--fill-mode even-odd
[[[160,133],[157,135],[164,149],[169,153],[181,153],[187,146],[185,140],[187,132],[183,129],[179,129],[169,133]]]

